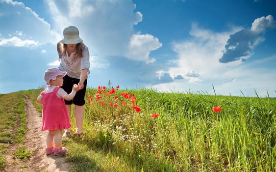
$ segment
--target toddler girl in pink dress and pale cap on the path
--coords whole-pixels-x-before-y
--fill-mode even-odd
[[[64,100],[72,100],[78,91],[78,86],[74,85],[72,92],[67,94],[59,87],[63,85],[65,75],[65,71],[57,68],[47,69],[44,74],[47,87],[37,97],[37,102],[43,106],[41,130],[49,131],[46,138],[47,155],[51,153],[59,155],[68,151],[66,147],[62,147],[62,130],[71,127]]]

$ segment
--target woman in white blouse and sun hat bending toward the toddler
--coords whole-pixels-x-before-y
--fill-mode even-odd
[[[74,26],[68,26],[63,30],[64,38],[57,43],[57,53],[60,60],[59,69],[66,71],[62,88],[70,93],[72,85],[77,84],[79,91],[71,101],[65,101],[68,117],[71,119],[71,106],[75,105],[74,135],[82,136],[82,124],[84,115],[84,96],[87,85],[87,74],[89,73],[89,51],[83,40],[79,37],[79,31]],[[70,128],[66,129],[62,137],[70,136]]]

